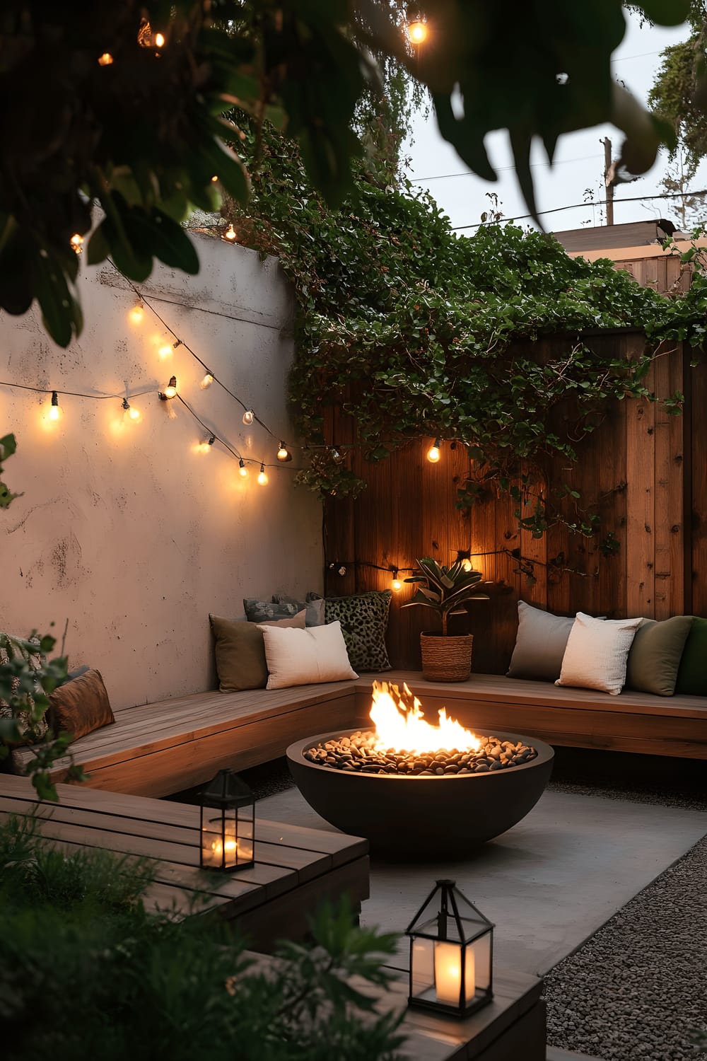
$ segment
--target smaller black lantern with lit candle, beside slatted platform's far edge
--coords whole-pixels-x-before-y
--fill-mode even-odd
[[[201,790],[202,869],[232,872],[255,862],[255,801],[233,770],[219,770]]]

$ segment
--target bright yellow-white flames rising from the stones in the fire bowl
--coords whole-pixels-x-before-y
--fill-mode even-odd
[[[401,693],[392,682],[374,681],[370,717],[375,725],[375,744],[379,749],[476,751],[481,746],[481,740],[456,718],[449,718],[445,708],[439,712],[439,726],[425,721],[422,703],[406,684]]]

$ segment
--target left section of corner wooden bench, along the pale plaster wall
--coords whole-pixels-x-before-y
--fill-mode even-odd
[[[88,785],[136,796],[169,796],[209,781],[222,767],[244,770],[284,755],[310,733],[356,724],[352,681],[254,689],[244,693],[194,693],[114,712],[116,721],[71,745]],[[13,751],[22,773],[32,748]],[[66,778],[69,759],[51,776]]]

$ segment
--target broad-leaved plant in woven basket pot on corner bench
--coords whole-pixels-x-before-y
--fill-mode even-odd
[[[418,582],[417,593],[404,608],[424,605],[436,611],[442,621],[441,632],[425,630],[420,634],[422,648],[422,673],[428,681],[465,681],[472,669],[471,633],[449,636],[449,615],[463,614],[464,604],[474,597],[488,601],[485,593],[479,593],[482,579],[480,571],[469,570],[463,560],[457,560],[450,568],[438,563],[429,556],[417,561],[420,571],[406,578],[406,582]]]

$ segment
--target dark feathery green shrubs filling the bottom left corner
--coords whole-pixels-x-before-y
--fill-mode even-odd
[[[395,937],[354,927],[341,904],[259,972],[217,920],[147,914],[143,859],[65,855],[39,828],[0,827],[6,1061],[392,1061],[400,1017],[349,980],[385,985]]]

